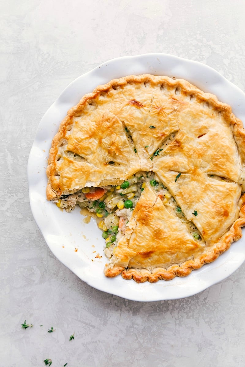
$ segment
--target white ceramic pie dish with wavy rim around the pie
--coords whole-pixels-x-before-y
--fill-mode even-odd
[[[30,151],[28,183],[30,206],[36,223],[50,250],[64,265],[101,291],[134,301],[159,301],[197,294],[231,275],[245,260],[245,239],[234,242],[216,261],[192,271],[184,278],[176,277],[153,284],[138,284],[121,276],[111,279],[103,273],[107,259],[103,252],[104,239],[96,222],[91,219],[86,224],[79,208],[67,213],[46,200],[48,151],[67,110],[100,84],[126,75],[145,73],[186,79],[231,105],[234,114],[245,121],[245,94],[206,65],[166,54],[112,59],[69,84],[43,116]]]

